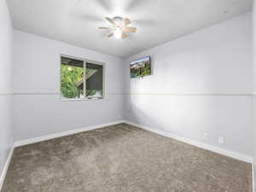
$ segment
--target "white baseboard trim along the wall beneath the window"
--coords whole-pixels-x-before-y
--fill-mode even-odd
[[[113,121],[113,122],[110,122],[110,123],[107,123],[107,124],[90,125],[90,126],[86,126],[84,128],[76,129],[76,130],[62,131],[62,132],[50,134],[50,135],[43,136],[43,137],[35,137],[35,138],[31,138],[31,139],[21,140],[21,141],[15,142],[14,146],[15,147],[20,147],[20,146],[27,145],[27,144],[43,142],[43,141],[53,139],[53,138],[56,138],[56,137],[69,136],[69,135],[73,135],[73,134],[76,134],[76,133],[79,133],[79,132],[95,130],[95,129],[102,128],[102,127],[105,127],[105,126],[117,125],[117,124],[120,124],[120,123],[124,123],[124,120]]]

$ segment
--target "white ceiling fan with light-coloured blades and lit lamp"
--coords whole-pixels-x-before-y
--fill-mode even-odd
[[[107,29],[110,30],[111,33],[108,35],[108,38],[115,37],[115,38],[127,38],[127,32],[136,32],[136,27],[130,27],[128,25],[131,24],[131,20],[128,18],[123,19],[120,16],[115,16],[113,19],[106,17],[106,20],[110,24],[113,25],[113,27],[99,27],[99,29]]]

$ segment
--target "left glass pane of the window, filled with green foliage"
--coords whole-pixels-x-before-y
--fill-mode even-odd
[[[84,61],[61,57],[61,97],[84,97]]]

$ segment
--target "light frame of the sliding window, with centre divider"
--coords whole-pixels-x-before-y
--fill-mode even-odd
[[[83,65],[84,65],[84,93],[85,93],[85,96],[84,98],[63,98],[61,97],[61,57],[67,57],[69,59],[73,59],[73,60],[79,60],[79,61],[83,61]],[[59,79],[60,79],[60,97],[61,97],[61,101],[62,102],[72,102],[72,101],[94,101],[94,100],[102,100],[102,99],[105,99],[105,87],[106,87],[106,79],[105,79],[105,70],[106,70],[106,63],[104,62],[100,62],[100,61],[93,61],[93,60],[90,60],[90,59],[84,59],[84,58],[81,58],[81,57],[76,57],[76,56],[70,56],[70,55],[63,55],[61,54],[60,55],[60,76],[59,76]],[[86,78],[85,78],[85,74],[86,74],[86,63],[91,63],[91,64],[96,64],[96,65],[100,65],[102,66],[102,97],[86,97]]]

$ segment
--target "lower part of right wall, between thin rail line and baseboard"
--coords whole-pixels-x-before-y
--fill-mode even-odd
[[[244,105],[247,96],[241,99],[237,96],[131,95],[127,99],[125,119],[131,122],[244,154],[252,151],[248,141],[250,131],[245,129],[241,135],[243,145],[230,136],[230,128],[235,136],[239,135],[241,127],[250,124],[249,99]],[[218,144],[219,136],[227,138],[225,145]]]

